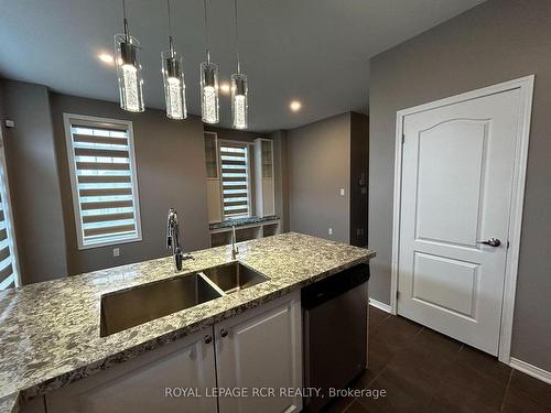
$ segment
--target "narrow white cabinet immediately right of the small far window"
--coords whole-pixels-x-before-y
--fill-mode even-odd
[[[255,194],[256,215],[276,215],[276,184],[273,181],[273,141],[255,140]]]

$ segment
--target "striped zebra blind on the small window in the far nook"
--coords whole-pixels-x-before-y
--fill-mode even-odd
[[[222,141],[220,167],[224,218],[250,216],[249,146]]]

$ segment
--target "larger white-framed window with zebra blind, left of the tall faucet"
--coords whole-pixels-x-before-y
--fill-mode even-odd
[[[132,122],[64,120],[78,249],[140,241]]]

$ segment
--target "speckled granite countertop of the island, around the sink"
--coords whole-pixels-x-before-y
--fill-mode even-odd
[[[270,280],[108,337],[102,294],[229,262],[231,247],[193,252],[181,273],[169,257],[1,292],[0,412],[375,257],[295,232],[240,242],[239,252]]]

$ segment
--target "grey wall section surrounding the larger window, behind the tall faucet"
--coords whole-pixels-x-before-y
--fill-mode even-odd
[[[69,274],[168,256],[165,230],[166,211],[170,207],[176,208],[182,219],[184,249],[208,248],[205,150],[199,118],[172,121],[165,117],[164,111],[154,109],[132,115],[112,102],[57,94],[52,94],[51,102]],[[64,112],[132,121],[143,241],[117,246],[120,248],[118,258],[112,257],[112,246],[80,251],[77,249]]]

